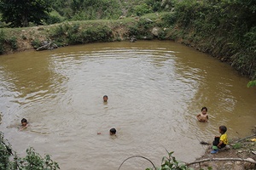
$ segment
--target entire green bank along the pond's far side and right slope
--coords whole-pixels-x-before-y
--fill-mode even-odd
[[[229,62],[241,74],[255,79],[256,8],[237,2],[182,1],[175,5],[172,12],[141,17],[69,21],[22,29],[5,28],[0,31],[0,53],[38,48],[43,41],[49,40],[61,47],[89,42],[124,41],[131,37],[158,38],[182,42],[211,54]],[[158,28],[156,33],[152,32],[153,28]]]

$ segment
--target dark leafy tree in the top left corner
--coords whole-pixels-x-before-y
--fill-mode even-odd
[[[26,27],[29,22],[37,25],[47,19],[51,0],[1,0],[2,20],[12,27]]]

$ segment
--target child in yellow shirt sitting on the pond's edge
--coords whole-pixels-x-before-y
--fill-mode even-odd
[[[212,142],[212,151],[211,154],[216,154],[218,149],[224,148],[226,144],[228,144],[228,136],[227,136],[227,127],[220,126],[219,133],[221,133],[220,137],[216,136],[214,141]]]

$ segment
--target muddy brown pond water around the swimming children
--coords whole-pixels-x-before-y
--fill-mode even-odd
[[[34,147],[61,169],[118,169],[129,156],[160,165],[204,153],[218,127],[255,125],[256,89],[230,65],[175,42],[109,42],[0,57],[1,131],[20,156]],[[102,96],[108,94],[108,104]],[[197,122],[202,106],[208,123]],[[21,118],[30,127],[19,132]],[[117,137],[108,130],[117,128]],[[101,135],[97,135],[101,132]],[[166,149],[165,149],[166,148]],[[140,158],[121,169],[145,169]]]

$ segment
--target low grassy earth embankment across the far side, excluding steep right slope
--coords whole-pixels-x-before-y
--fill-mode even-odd
[[[148,14],[122,20],[68,21],[50,26],[3,28],[0,31],[0,53],[9,54],[38,48],[44,41],[63,47],[90,42],[125,41],[130,37],[153,39],[154,26],[161,25],[161,15]]]

